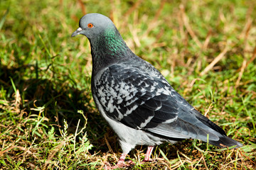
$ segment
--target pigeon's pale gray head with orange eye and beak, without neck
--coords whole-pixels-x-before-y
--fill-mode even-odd
[[[71,37],[82,34],[90,40],[100,35],[107,28],[115,28],[110,18],[100,13],[88,13],[82,16],[79,21],[79,28],[75,30]]]

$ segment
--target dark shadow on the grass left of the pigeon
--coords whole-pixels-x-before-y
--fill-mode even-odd
[[[34,66],[21,65],[21,67],[7,67],[0,65],[0,86],[1,98],[7,101],[15,101],[15,89],[11,83],[14,81],[15,88],[19,91],[21,96],[21,103],[19,103],[19,113],[26,111],[26,116],[32,114],[41,114],[48,119],[45,123],[50,130],[50,126],[55,126],[55,134],[60,135],[60,130],[63,129],[64,120],[68,123],[68,133],[75,134],[78,121],[80,125],[78,131],[85,125],[85,119],[78,110],[82,110],[87,117],[87,125],[85,131],[87,132],[88,140],[94,146],[90,153],[94,154],[100,150],[107,152],[108,148],[105,142],[105,135],[108,134],[110,143],[114,146],[117,137],[114,132],[108,128],[107,123],[103,120],[96,108],[93,108],[92,97],[88,89],[78,89],[68,82],[69,79],[33,79],[24,77],[25,72],[34,72]],[[26,73],[27,74],[27,73]],[[44,107],[43,112],[35,111],[34,108]],[[0,107],[0,112],[5,111]],[[1,116],[8,116],[1,115]],[[82,136],[78,136],[82,137]],[[31,137],[33,138],[33,137]],[[113,141],[112,141],[113,140]],[[116,151],[116,150],[115,150]]]

